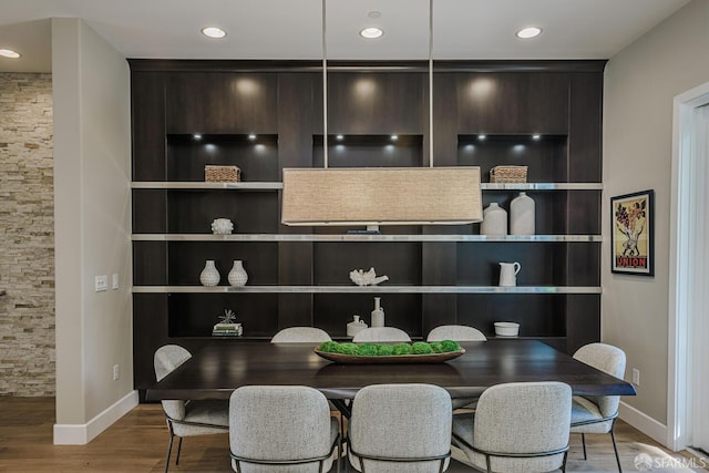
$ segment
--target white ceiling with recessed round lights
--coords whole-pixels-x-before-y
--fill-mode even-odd
[[[689,0],[434,0],[434,59],[608,59]],[[327,0],[329,59],[429,54],[428,0]],[[379,18],[370,18],[372,11]],[[126,58],[321,59],[321,0],[0,0],[0,72],[51,71],[50,18],[83,19]],[[214,40],[199,30],[217,25]],[[384,30],[377,40],[358,33]],[[538,25],[532,40],[515,31]]]

